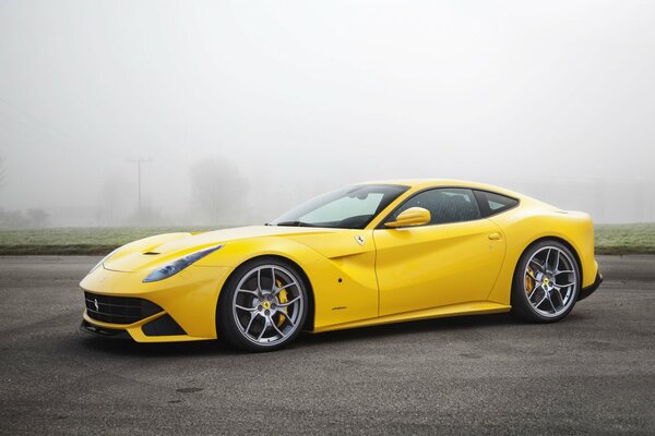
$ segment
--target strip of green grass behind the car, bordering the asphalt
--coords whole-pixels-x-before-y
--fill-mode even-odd
[[[56,228],[0,230],[0,255],[109,253],[140,238],[202,227]],[[655,222],[596,226],[597,254],[655,254]]]

